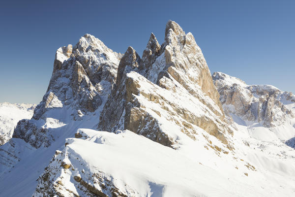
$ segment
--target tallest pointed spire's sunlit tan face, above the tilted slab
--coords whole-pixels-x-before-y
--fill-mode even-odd
[[[192,33],[185,34],[177,23],[169,21],[165,30],[165,42],[165,70],[190,94],[199,99],[201,99],[200,94],[195,90],[201,87],[202,94],[212,99],[218,109],[205,100],[202,102],[207,103],[216,115],[223,116],[219,94],[214,87],[203,53]]]

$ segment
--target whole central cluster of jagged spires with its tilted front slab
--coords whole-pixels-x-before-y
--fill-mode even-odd
[[[185,34],[174,21],[167,23],[161,47],[151,34],[142,59],[132,47],[127,49],[97,129],[127,129],[172,146],[177,134],[161,128],[163,120],[177,120],[171,127],[192,138],[196,128],[202,128],[227,143],[224,134],[231,132],[201,49],[193,35]]]

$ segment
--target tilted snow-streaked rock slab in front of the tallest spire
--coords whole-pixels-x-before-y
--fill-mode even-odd
[[[124,129],[172,146],[176,143],[177,132],[195,140],[201,128],[227,143],[224,135],[226,124],[218,116],[200,100],[186,95],[186,90],[177,87],[179,84],[173,78],[165,77],[163,80],[169,88],[177,91],[156,86],[136,72],[127,74]],[[161,126],[165,124],[171,125],[170,129]]]

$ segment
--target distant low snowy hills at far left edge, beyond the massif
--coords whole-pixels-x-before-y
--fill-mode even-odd
[[[12,137],[18,121],[31,119],[35,107],[35,104],[0,103],[0,145]]]

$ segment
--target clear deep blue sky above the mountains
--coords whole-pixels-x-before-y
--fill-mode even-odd
[[[142,55],[168,20],[193,33],[211,73],[295,93],[295,0],[1,0],[0,102],[39,103],[55,51],[86,33]]]

